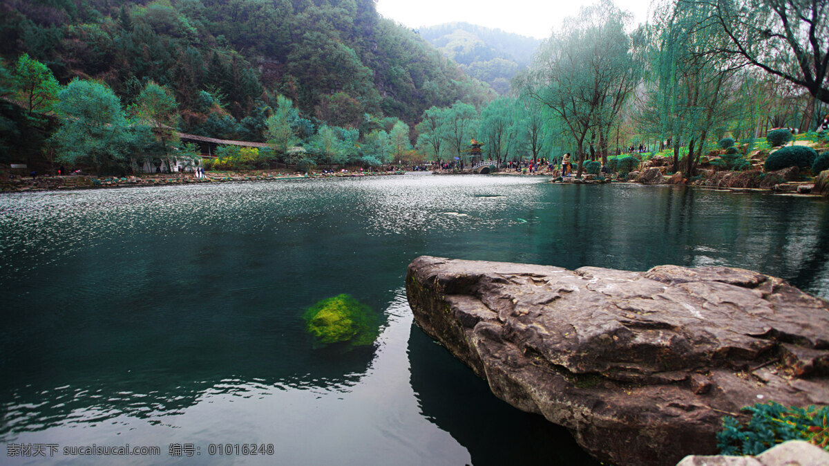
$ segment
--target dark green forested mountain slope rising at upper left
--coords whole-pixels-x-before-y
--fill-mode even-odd
[[[351,128],[493,95],[372,0],[0,0],[0,55],[23,53],[61,84],[103,81],[124,104],[154,81],[172,90],[183,131],[217,138],[263,140],[279,94]]]

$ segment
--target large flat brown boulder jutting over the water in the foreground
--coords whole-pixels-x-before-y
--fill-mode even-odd
[[[829,303],[744,269],[409,265],[420,328],[521,410],[618,465],[715,454],[722,417],[829,404]]]

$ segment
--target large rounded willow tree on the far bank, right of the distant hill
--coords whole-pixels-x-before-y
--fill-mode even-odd
[[[570,129],[576,177],[584,168],[588,134],[599,135],[600,142],[607,138],[633,86],[628,17],[609,0],[582,8],[541,45],[530,72],[518,80],[523,95],[550,108]]]

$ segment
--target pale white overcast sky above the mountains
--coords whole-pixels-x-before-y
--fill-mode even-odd
[[[377,12],[407,27],[444,22],[470,22],[480,26],[545,39],[561,19],[575,16],[589,0],[378,0]],[[647,21],[649,0],[616,0],[633,13],[635,23]]]

